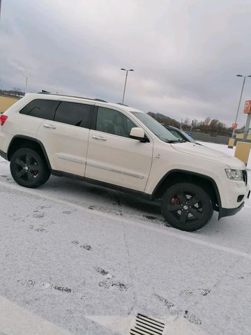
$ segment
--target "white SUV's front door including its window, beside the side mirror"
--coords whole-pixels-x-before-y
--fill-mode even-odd
[[[137,127],[125,114],[98,107],[96,129],[89,133],[85,176],[109,184],[144,191],[153,156],[153,144],[129,137]]]

